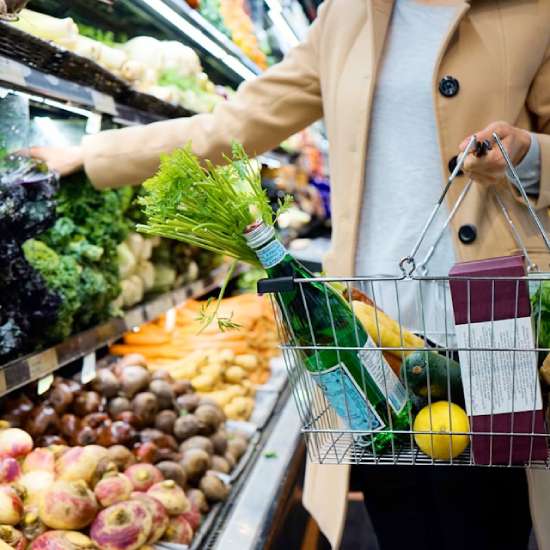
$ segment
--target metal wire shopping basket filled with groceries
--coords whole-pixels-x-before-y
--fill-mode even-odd
[[[498,136],[493,138],[550,250],[513,163]],[[476,146],[474,137],[414,249],[401,261],[401,275],[260,281],[259,291],[270,293],[274,303],[313,462],[548,468],[543,397],[548,390],[543,394],[539,369],[550,349],[537,342],[546,330],[550,274],[538,273],[500,197],[525,257],[500,259],[504,275],[426,274],[471,181],[435,244],[415,263],[449,187]],[[487,262],[494,268],[493,260]]]

